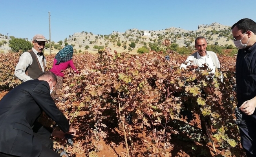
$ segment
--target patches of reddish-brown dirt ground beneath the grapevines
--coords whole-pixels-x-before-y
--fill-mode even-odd
[[[0,92],[0,99],[4,97],[4,95],[7,93],[7,91]],[[79,117],[86,116],[86,112],[81,111],[79,114]],[[198,115],[194,115],[196,118],[192,120],[189,124],[191,126],[195,126],[195,128],[200,129],[200,119]],[[77,123],[77,122],[76,122]],[[77,128],[78,129],[78,128]],[[136,157],[151,157],[151,155],[148,153],[148,149],[150,148],[151,143],[148,143],[147,141],[151,141],[151,135],[152,131],[148,131],[147,128],[140,128],[140,126],[137,126],[136,124],[132,126],[132,136],[133,143],[135,146],[135,150],[137,153]],[[133,134],[134,133],[134,134]],[[85,157],[85,152],[83,148],[81,147],[80,141],[82,141],[83,137],[79,137],[79,131],[78,134],[74,138],[74,146],[72,148],[69,148],[70,151],[76,153],[76,157]],[[196,141],[189,141],[189,138],[187,135],[181,135],[171,136],[170,139],[170,146],[168,147],[168,152],[166,156],[170,157],[215,157],[217,154],[221,154],[221,150],[219,150],[219,146],[215,145],[216,152],[214,152],[211,142],[208,142],[206,144],[203,144],[202,142],[196,142]],[[56,139],[57,144],[61,144],[61,140]],[[55,144],[56,144],[55,141]],[[91,143],[94,141],[92,140]],[[124,142],[124,134],[123,131],[120,131],[118,127],[111,126],[108,127],[108,135],[106,139],[100,139],[97,143],[102,147],[102,150],[97,152],[96,154],[98,157],[126,157],[126,147]],[[129,143],[130,144],[130,143]],[[159,150],[161,151],[161,150]],[[243,155],[241,155],[242,157]],[[94,156],[93,156],[94,157]]]

